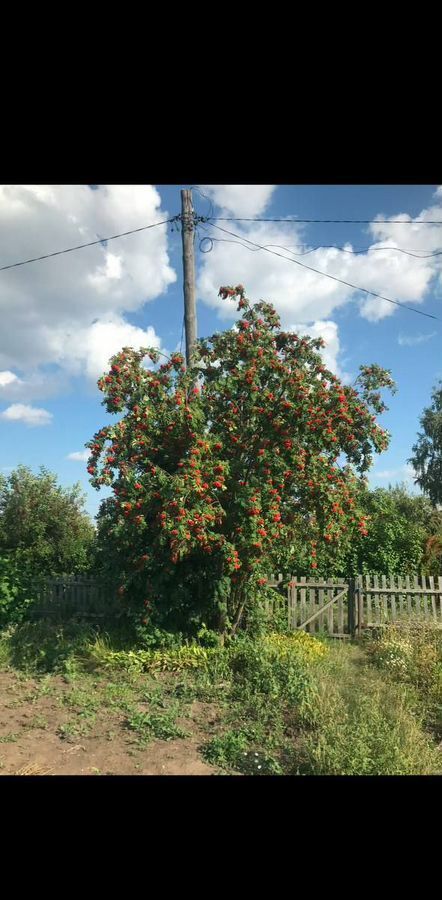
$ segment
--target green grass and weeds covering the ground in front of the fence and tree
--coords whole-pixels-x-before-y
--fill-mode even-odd
[[[142,753],[190,737],[196,704],[198,754],[214,773],[425,775],[442,772],[440,637],[416,624],[363,646],[269,632],[220,647],[206,633],[206,646],[134,650],[129,635],[40,622],[4,632],[0,659],[3,671],[36,679],[29,703],[53,692],[67,714],[63,742],[100,722],[103,740],[122,734]],[[47,724],[34,714],[27,727]]]

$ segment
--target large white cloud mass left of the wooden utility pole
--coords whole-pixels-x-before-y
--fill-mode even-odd
[[[160,195],[150,185],[105,185],[94,191],[87,185],[0,186],[2,262],[166,218]],[[95,377],[103,361],[107,364],[109,348],[110,353],[120,349],[119,337],[137,341],[143,331],[131,326],[125,313],[141,309],[175,280],[167,226],[2,272],[0,368],[17,369],[23,382],[32,374],[34,388],[47,364]],[[40,383],[42,392],[50,389],[51,377]],[[8,386],[12,389],[12,382]]]

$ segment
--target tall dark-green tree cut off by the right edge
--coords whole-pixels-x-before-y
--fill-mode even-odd
[[[442,382],[431,396],[433,402],[421,416],[423,431],[418,432],[409,462],[416,473],[416,484],[436,507],[442,503]]]

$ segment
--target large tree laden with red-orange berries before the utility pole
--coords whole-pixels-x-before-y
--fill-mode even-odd
[[[144,605],[146,623],[232,633],[294,531],[312,572],[319,546],[367,534],[360,477],[388,445],[376,414],[379,389],[394,385],[372,365],[343,386],[322,340],[282,331],[241,285],[220,294],[242,316],[198,342],[193,368],[175,353],[148,369],[160,358],[149,349],[113,358],[99,387],[123,417],[88,445],[88,471],[113,488],[98,530],[123,602]]]

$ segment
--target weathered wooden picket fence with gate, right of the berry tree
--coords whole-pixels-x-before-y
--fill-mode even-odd
[[[348,580],[272,575],[268,584],[276,590],[266,611],[285,618],[293,631],[325,631],[345,639],[404,617],[442,627],[440,575],[358,575]]]

